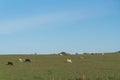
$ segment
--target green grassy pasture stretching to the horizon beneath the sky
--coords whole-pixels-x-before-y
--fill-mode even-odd
[[[80,59],[83,56],[84,59]],[[19,62],[29,58],[31,63]],[[66,63],[66,59],[73,63]],[[6,65],[8,61],[13,66]],[[0,55],[0,80],[120,80],[120,54]]]

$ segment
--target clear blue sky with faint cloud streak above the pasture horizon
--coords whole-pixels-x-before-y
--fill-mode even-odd
[[[0,0],[0,54],[119,50],[119,0]]]

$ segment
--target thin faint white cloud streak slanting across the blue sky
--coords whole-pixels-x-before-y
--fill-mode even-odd
[[[0,34],[18,32],[31,27],[35,28],[44,25],[55,25],[71,23],[76,20],[84,20],[95,16],[98,13],[88,13],[81,11],[69,11],[61,13],[48,13],[24,18],[11,19],[0,22]],[[99,15],[99,14],[98,14]]]

